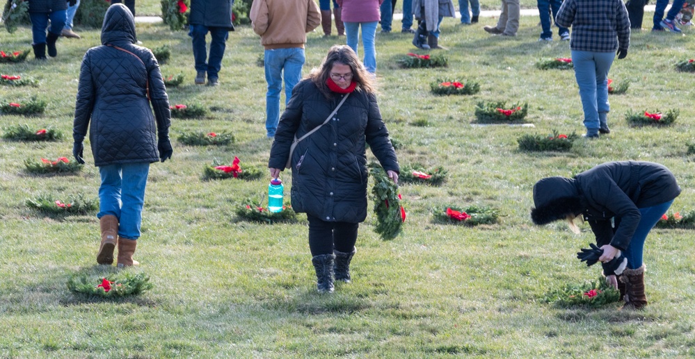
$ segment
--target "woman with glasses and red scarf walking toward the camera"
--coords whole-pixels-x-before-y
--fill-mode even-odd
[[[315,128],[290,151],[295,136],[301,138]],[[367,217],[365,142],[398,183],[398,161],[376,104],[372,77],[350,47],[331,47],[320,69],[294,87],[268,165],[271,176],[278,178],[291,163],[292,208],[309,219],[319,292],[333,292],[334,273],[337,281],[351,279],[358,226]]]

